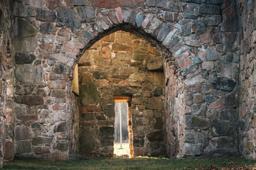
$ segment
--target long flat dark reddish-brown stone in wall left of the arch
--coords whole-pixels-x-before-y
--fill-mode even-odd
[[[43,97],[41,96],[15,96],[14,102],[26,104],[29,106],[43,105]]]

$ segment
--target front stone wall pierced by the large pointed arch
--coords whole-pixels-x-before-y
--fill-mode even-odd
[[[97,40],[117,30],[144,38],[164,57],[168,156],[238,153],[235,5],[232,0],[14,1],[15,154],[68,159],[78,152],[73,69]]]

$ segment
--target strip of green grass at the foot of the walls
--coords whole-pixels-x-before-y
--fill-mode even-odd
[[[24,159],[9,162],[4,169],[253,169],[254,161],[239,158],[166,159],[136,157],[97,158],[63,162],[46,159]],[[256,169],[256,168],[255,168]]]

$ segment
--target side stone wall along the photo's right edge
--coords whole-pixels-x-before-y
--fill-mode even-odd
[[[256,159],[255,148],[255,1],[237,1],[240,21],[240,123],[239,141],[241,154]]]

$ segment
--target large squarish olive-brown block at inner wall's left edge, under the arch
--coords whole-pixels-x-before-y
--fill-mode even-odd
[[[94,104],[100,98],[100,93],[97,91],[97,86],[95,84],[82,84],[79,88],[80,91],[80,103],[83,106],[87,106],[89,104]]]

